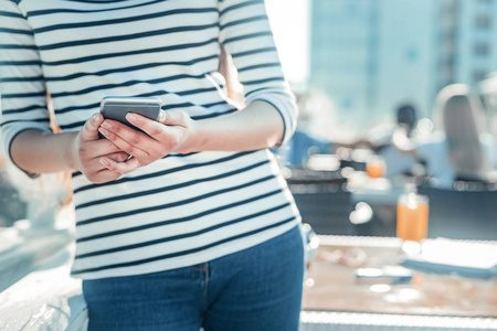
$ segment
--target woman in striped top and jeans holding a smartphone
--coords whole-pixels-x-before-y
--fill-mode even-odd
[[[264,2],[0,0],[0,15],[2,145],[31,177],[72,171],[89,330],[297,330],[299,215],[267,150],[297,109]],[[163,111],[128,114],[145,135],[98,115],[105,96]]]

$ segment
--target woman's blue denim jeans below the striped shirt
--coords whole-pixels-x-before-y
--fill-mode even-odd
[[[303,277],[296,226],[209,263],[85,280],[88,330],[296,331]]]

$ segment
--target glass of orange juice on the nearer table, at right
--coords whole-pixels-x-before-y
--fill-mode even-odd
[[[420,243],[426,238],[427,224],[429,197],[416,193],[402,194],[396,205],[396,236],[404,241],[404,252],[406,247],[411,247],[412,253],[421,250]]]

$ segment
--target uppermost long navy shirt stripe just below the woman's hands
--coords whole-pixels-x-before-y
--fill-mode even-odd
[[[187,164],[187,166],[182,166],[182,167],[178,167],[178,168],[173,168],[173,169],[167,169],[163,171],[159,171],[159,172],[154,172],[154,173],[148,173],[148,174],[142,174],[142,175],[137,175],[137,177],[131,177],[131,178],[123,178],[123,179],[118,179],[108,183],[103,183],[103,184],[89,184],[86,186],[82,186],[78,189],[74,190],[74,194],[83,192],[83,191],[87,191],[87,190],[93,190],[93,189],[99,189],[103,186],[112,186],[112,185],[117,185],[120,183],[128,183],[128,182],[135,182],[135,181],[141,181],[141,180],[146,180],[146,179],[151,179],[151,178],[156,178],[156,177],[160,177],[160,175],[165,175],[165,174],[170,174],[170,173],[175,173],[175,172],[179,172],[179,171],[184,171],[184,170],[190,170],[190,169],[194,169],[194,168],[201,168],[201,167],[207,167],[207,166],[213,166],[213,164],[220,164],[223,162],[228,162],[228,161],[232,161],[252,153],[255,153],[256,151],[245,151],[245,152],[239,152],[225,158],[220,158],[220,159],[215,159],[215,160],[211,160],[208,162],[201,162],[201,163],[192,163],[192,164]]]

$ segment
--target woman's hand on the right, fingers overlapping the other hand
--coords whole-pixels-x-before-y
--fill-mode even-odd
[[[112,171],[128,173],[169,153],[194,150],[191,138],[194,137],[195,121],[182,110],[160,110],[158,121],[131,113],[128,113],[126,119],[146,134],[110,119],[104,120],[98,129],[108,140],[131,156],[124,162],[103,157],[101,163]]]

